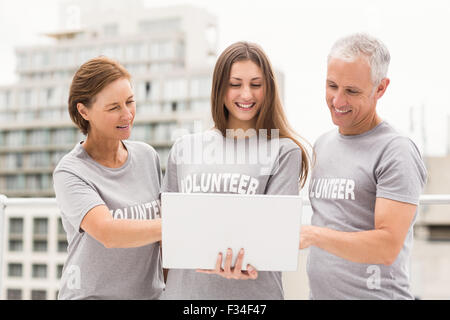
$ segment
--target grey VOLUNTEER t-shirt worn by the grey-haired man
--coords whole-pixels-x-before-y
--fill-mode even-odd
[[[388,123],[354,136],[330,131],[314,148],[317,162],[309,187],[312,225],[345,232],[373,230],[376,198],[418,205],[425,165],[415,144]],[[355,263],[311,247],[307,263],[311,298],[412,299],[414,221],[390,266]]]

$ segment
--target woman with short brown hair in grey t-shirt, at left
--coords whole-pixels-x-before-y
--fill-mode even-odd
[[[94,58],[76,72],[69,113],[86,135],[53,173],[67,233],[59,299],[157,299],[161,169],[155,150],[129,138],[136,105],[129,73]]]

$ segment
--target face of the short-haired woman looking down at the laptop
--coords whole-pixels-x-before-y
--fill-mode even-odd
[[[78,111],[89,121],[88,135],[108,140],[130,137],[136,114],[136,103],[130,81],[120,78],[111,82],[95,97],[90,108],[78,105]]]

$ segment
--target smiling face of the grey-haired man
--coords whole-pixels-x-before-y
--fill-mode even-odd
[[[365,57],[351,62],[338,58],[329,61],[326,100],[331,119],[341,134],[360,134],[377,124],[376,103],[388,83],[389,79],[383,79],[374,88]]]

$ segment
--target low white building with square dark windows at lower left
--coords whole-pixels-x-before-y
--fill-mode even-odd
[[[9,203],[5,213],[2,299],[56,299],[67,240],[55,200]]]

